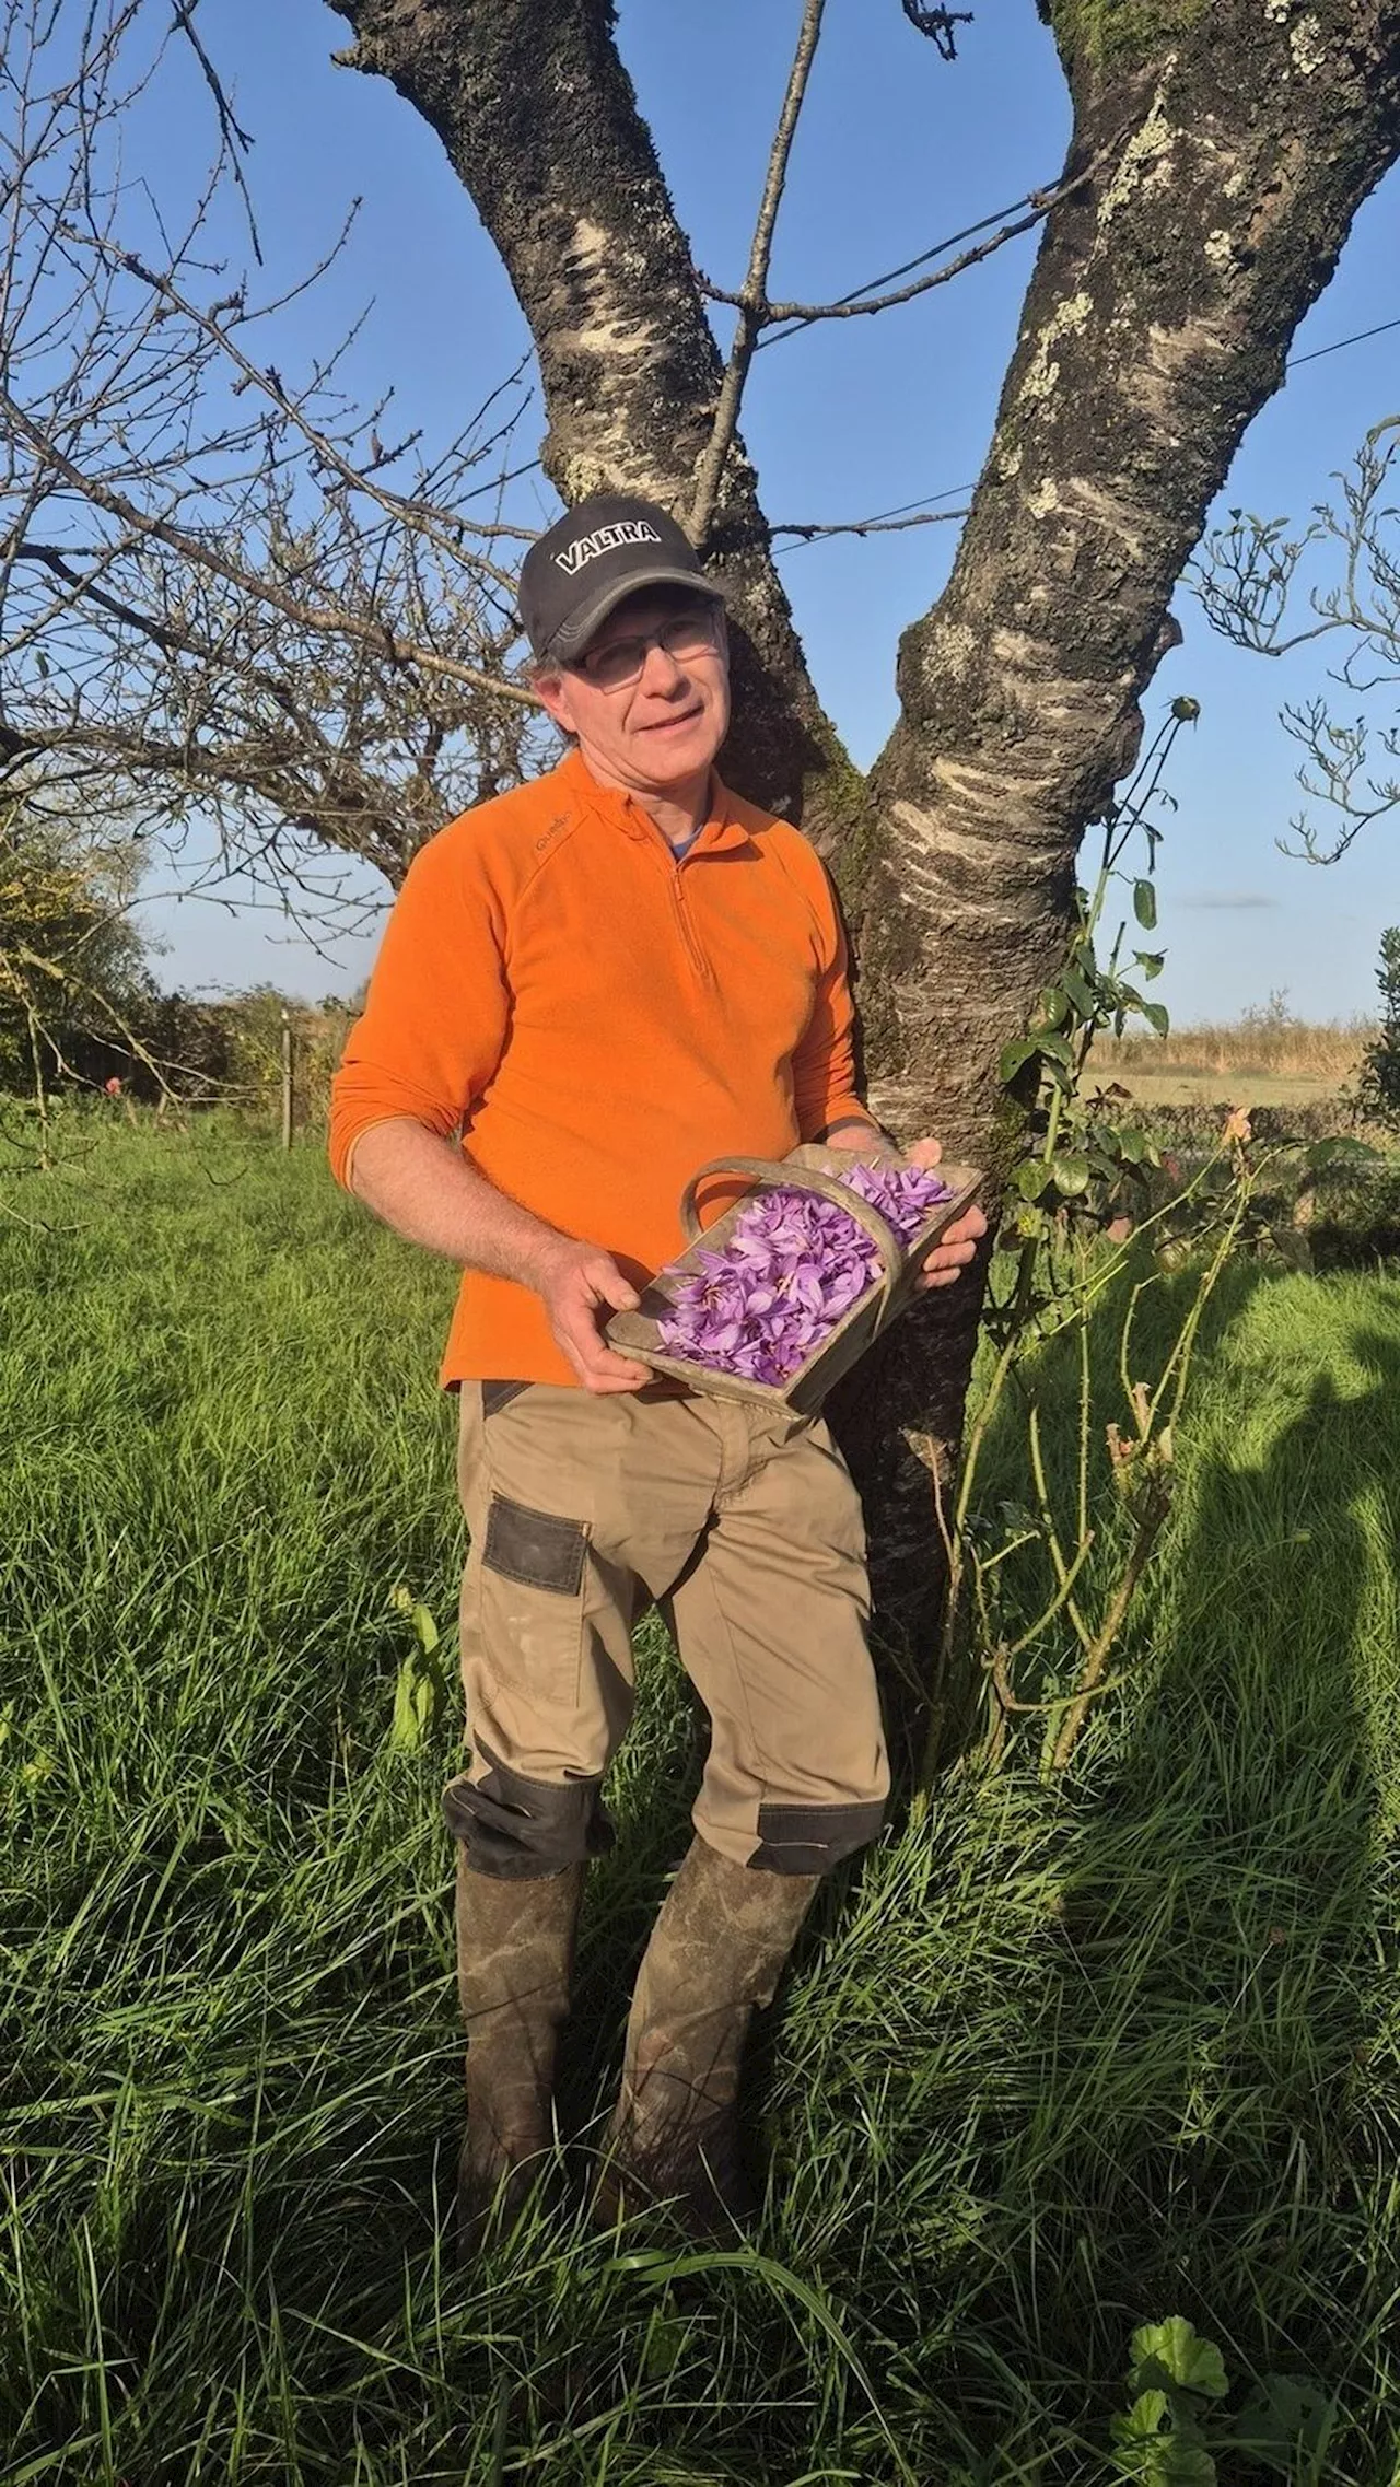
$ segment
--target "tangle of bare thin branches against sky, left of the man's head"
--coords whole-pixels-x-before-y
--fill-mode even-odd
[[[211,249],[244,142],[219,97],[184,201],[127,184],[124,117],[194,7],[149,42],[144,0],[0,0],[0,786],[119,821],[182,890],[251,875],[288,920],[356,925],[368,875],[550,749],[502,507],[532,390],[520,366],[438,445],[356,405],[358,323],[306,346],[353,209],[254,298]]]

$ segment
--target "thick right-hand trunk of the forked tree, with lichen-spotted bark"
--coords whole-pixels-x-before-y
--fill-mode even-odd
[[[1241,435],[1283,381],[1355,209],[1400,152],[1400,7],[1059,0],[1074,95],[992,450],[957,562],[900,644],[855,895],[875,1112],[997,1174],[1002,1047],[1054,982],[1084,826],[1131,766],[1171,592]],[[960,1437],[972,1291],[863,1368],[843,1440],[875,1587],[928,1644],[933,1470]]]

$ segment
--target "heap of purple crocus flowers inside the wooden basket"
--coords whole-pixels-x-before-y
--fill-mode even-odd
[[[947,1184],[928,1166],[863,1166],[840,1176],[908,1248]],[[880,1253],[855,1219],[816,1191],[761,1191],[724,1251],[701,1251],[656,1323],[666,1355],[781,1388],[880,1278]]]

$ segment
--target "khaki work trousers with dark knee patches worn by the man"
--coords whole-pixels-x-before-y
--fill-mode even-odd
[[[865,1530],[818,1418],[664,1385],[463,1383],[470,1766],[443,1806],[475,1873],[540,1878],[609,1840],[632,1626],[656,1602],[711,1721],[699,1835],[826,1873],[888,1796]]]

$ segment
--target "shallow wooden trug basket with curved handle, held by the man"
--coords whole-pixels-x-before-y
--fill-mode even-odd
[[[609,1348],[619,1355],[632,1355],[642,1365],[652,1365],[654,1373],[669,1373],[676,1380],[691,1385],[691,1390],[704,1390],[711,1398],[739,1398],[751,1400],[761,1408],[786,1408],[793,1415],[813,1415],[821,1408],[826,1393],[850,1373],[850,1365],[865,1355],[865,1348],[888,1331],[905,1306],[910,1303],[918,1283],[918,1273],[928,1261],[933,1246],[955,1219],[977,1199],[982,1176],[975,1166],[935,1166],[933,1171],[942,1176],[950,1186],[945,1201],[935,1201],[928,1224],[920,1226],[918,1236],[908,1246],[900,1246],[893,1226],[880,1211],[863,1201],[858,1191],[838,1179],[840,1166],[875,1164],[875,1154],[865,1156],[858,1149],[821,1149],[816,1142],[793,1149],[783,1159],[768,1156],[716,1156],[709,1166],[684,1189],[681,1196],[681,1226],[691,1236],[689,1251],[679,1261],[669,1261],[666,1268],[656,1271],[652,1286],[644,1291],[642,1303],[634,1313],[612,1313],[604,1323],[604,1336]],[[898,1159],[908,1164],[908,1159]],[[744,1176],[744,1194],[714,1221],[704,1226],[699,1221],[699,1191],[704,1184],[719,1176]],[[840,1316],[840,1321],[826,1333],[823,1343],[788,1375],[786,1383],[758,1383],[746,1380],[741,1373],[716,1373],[711,1365],[696,1365],[684,1355],[669,1355],[659,1340],[659,1321],[674,1303],[674,1291],[684,1286],[686,1278],[701,1273],[704,1253],[724,1251],[729,1236],[748,1206],[756,1191],[818,1191],[823,1201],[836,1201],[848,1216],[865,1229],[875,1244],[883,1263],[883,1278],[875,1278],[863,1296]]]

